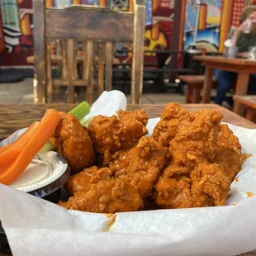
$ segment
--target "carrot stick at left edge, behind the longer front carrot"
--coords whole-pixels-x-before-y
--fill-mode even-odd
[[[12,165],[13,161],[17,159],[17,156],[21,153],[21,150],[26,145],[27,141],[30,140],[31,135],[35,132],[40,122],[35,121],[32,125],[21,135],[21,137],[12,143],[11,146],[6,145],[2,147],[0,151],[0,168],[3,166]]]

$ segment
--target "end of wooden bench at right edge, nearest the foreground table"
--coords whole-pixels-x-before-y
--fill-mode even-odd
[[[256,123],[256,95],[235,95],[233,98],[235,102],[239,102],[239,104],[242,104],[244,107],[246,107],[245,118]]]

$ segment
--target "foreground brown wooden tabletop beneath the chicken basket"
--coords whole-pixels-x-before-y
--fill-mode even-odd
[[[40,120],[44,115],[45,110],[48,108],[55,108],[59,111],[70,111],[76,105],[74,104],[45,104],[45,105],[31,105],[31,104],[0,104],[0,138],[11,135],[15,130],[27,127],[32,121]],[[149,104],[149,105],[128,105],[127,110],[133,111],[136,109],[144,109],[149,118],[159,117],[163,111],[164,104]],[[216,104],[182,104],[182,106],[190,111],[200,111],[203,109],[212,109],[221,111],[225,122],[229,122],[236,126],[243,126],[246,128],[256,129],[256,125],[244,119],[241,116],[236,115],[234,112],[225,109]],[[256,247],[256,245],[255,245]],[[241,254],[243,256],[256,255],[256,250],[247,254]],[[7,256],[6,254],[0,254],[0,256]]]

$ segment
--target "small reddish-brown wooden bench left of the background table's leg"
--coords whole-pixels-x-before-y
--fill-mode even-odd
[[[187,83],[187,88],[185,92],[185,102],[186,103],[199,103],[201,100],[201,89],[205,81],[204,75],[180,75],[178,78]],[[213,78],[212,87],[217,86],[216,78]]]

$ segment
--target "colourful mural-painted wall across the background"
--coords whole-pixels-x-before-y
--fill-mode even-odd
[[[99,1],[99,2],[98,2]],[[47,7],[68,7],[71,4],[104,4],[106,0],[46,0]],[[109,0],[107,0],[109,2]],[[180,0],[186,1],[186,0]],[[26,65],[26,57],[33,55],[32,0],[0,1],[0,53],[3,65]],[[238,25],[239,14],[246,2],[256,0],[206,0],[201,6],[200,30],[197,45],[207,51],[222,51],[230,26]],[[174,0],[146,0],[145,50],[170,49],[173,40]],[[192,42],[196,10],[187,0],[183,19],[183,45]],[[175,35],[178,36],[178,35]],[[182,41],[182,40],[181,40]],[[130,47],[116,45],[117,49]],[[147,54],[149,55],[149,54]],[[150,56],[148,56],[150,57]]]

